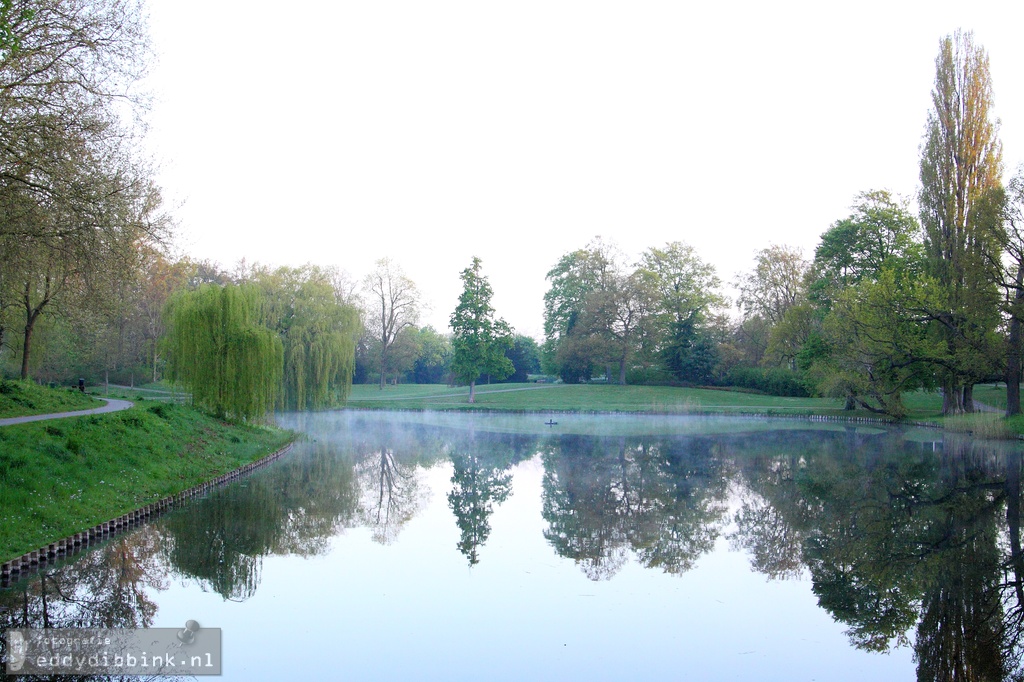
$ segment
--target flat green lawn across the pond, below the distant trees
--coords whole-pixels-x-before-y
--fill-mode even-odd
[[[402,384],[352,386],[350,408],[387,410],[509,410],[537,412],[643,412],[658,414],[759,413],[778,415],[839,415],[877,417],[867,411],[843,410],[835,398],[795,398],[731,390],[671,386],[608,384],[492,384],[478,386],[476,402],[469,404],[468,388]],[[934,419],[942,408],[935,393],[906,397],[911,419]]]

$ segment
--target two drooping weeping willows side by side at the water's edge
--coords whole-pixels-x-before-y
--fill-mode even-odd
[[[256,267],[177,291],[165,310],[170,376],[221,417],[344,401],[361,328],[335,270]]]

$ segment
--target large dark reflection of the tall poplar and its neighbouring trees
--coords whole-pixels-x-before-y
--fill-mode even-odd
[[[792,456],[752,458],[744,476],[788,538],[803,538],[819,604],[855,645],[888,650],[916,624],[918,679],[1020,679],[1020,455],[897,438],[820,438],[796,469]]]

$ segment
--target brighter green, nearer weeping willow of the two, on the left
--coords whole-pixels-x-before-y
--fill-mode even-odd
[[[252,286],[204,285],[168,304],[170,376],[218,417],[258,419],[276,400],[284,352],[256,321],[259,299]]]

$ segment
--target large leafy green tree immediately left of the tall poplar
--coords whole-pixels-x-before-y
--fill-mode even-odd
[[[925,333],[933,294],[921,228],[887,191],[862,193],[852,209],[821,236],[808,301],[773,330],[769,353],[794,358],[818,392],[845,397],[848,409],[899,416],[902,393],[930,383],[937,351]]]

